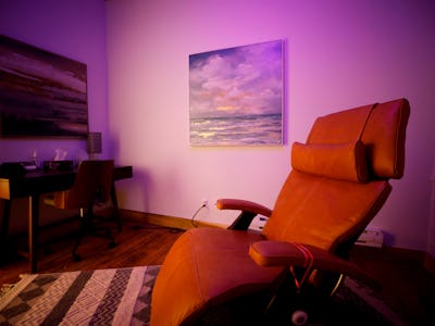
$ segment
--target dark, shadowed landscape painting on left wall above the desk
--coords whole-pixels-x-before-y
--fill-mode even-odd
[[[0,35],[0,137],[87,134],[86,64]]]

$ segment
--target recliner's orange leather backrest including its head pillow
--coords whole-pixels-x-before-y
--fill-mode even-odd
[[[319,117],[291,166],[263,235],[346,255],[405,167],[409,103],[399,99]]]

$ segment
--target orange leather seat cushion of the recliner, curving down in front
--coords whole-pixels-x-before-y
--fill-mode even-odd
[[[182,235],[157,278],[151,325],[188,324],[208,308],[264,290],[282,267],[262,267],[249,246],[264,240],[258,233],[196,228]]]

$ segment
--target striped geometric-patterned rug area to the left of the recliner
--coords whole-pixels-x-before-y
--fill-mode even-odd
[[[159,268],[25,275],[0,299],[0,325],[147,325]]]

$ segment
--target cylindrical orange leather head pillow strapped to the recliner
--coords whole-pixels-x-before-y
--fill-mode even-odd
[[[294,142],[291,166],[300,172],[340,180],[365,183],[369,178],[365,146],[361,141],[332,145]]]

